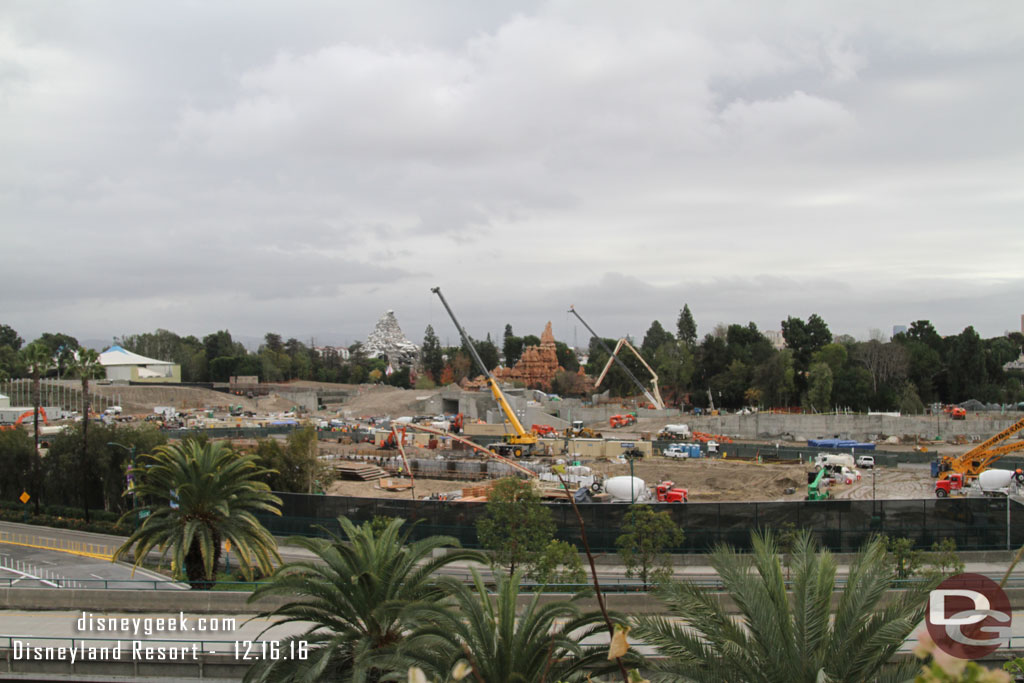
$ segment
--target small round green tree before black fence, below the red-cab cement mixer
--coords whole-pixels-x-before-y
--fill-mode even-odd
[[[672,577],[669,551],[683,543],[683,532],[666,511],[633,505],[623,518],[623,533],[615,540],[626,575],[639,578],[644,588]]]

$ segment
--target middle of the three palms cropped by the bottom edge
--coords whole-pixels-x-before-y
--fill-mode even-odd
[[[441,680],[461,667],[472,673],[468,680],[553,683],[587,680],[595,668],[615,666],[609,667],[606,645],[580,644],[605,630],[600,612],[583,613],[575,603],[584,594],[542,603],[541,593],[534,593],[517,614],[521,579],[522,570],[511,577],[496,571],[494,602],[475,569],[473,590],[446,580],[453,604],[420,603],[407,610],[420,626],[398,646],[394,668],[416,666]]]

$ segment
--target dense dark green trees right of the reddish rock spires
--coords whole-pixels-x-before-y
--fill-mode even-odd
[[[942,337],[929,321],[915,321],[889,341],[877,332],[868,341],[857,341],[834,337],[817,314],[806,321],[790,316],[781,329],[781,349],[754,323],[721,325],[698,341],[684,306],[674,333],[654,321],[637,350],[657,373],[667,401],[677,405],[914,414],[932,403],[970,398],[1002,404],[1024,400],[1024,373],[1004,370],[1024,347],[1024,335],[1017,332],[982,339],[968,327]],[[620,357],[637,377],[649,378],[635,356],[621,352]],[[607,359],[598,340],[591,339],[588,374],[599,374]],[[637,393],[617,366],[599,388],[612,395]]]

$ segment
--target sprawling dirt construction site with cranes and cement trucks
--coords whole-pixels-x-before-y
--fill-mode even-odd
[[[594,513],[600,517],[596,523],[611,526],[621,515],[616,510],[623,509],[615,503],[670,504],[673,516],[690,528],[698,523],[720,526],[728,509],[736,527],[749,529],[765,514],[764,506],[826,503],[822,508],[772,508],[771,518],[818,524],[808,519],[834,510],[839,516],[826,515],[820,522],[830,528],[848,513],[841,510],[860,509],[835,508],[830,502],[869,502],[866,513],[847,521],[854,526],[840,533],[854,538],[856,529],[879,530],[880,524],[903,518],[893,514],[880,521],[885,515],[880,517],[876,503],[890,502],[895,510],[897,504],[916,502],[928,506],[921,514],[931,519],[939,510],[934,508],[937,503],[977,499],[972,505],[980,504],[981,510],[993,501],[999,505],[999,497],[1007,499],[1024,485],[1024,473],[1014,472],[1024,466],[1018,456],[1024,451],[1024,419],[1017,412],[683,413],[665,404],[657,376],[628,340],[606,349],[607,365],[596,380],[588,378],[594,388],[588,398],[556,396],[526,388],[543,386],[560,370],[550,323],[540,344],[525,348],[518,362],[492,372],[439,289],[433,292],[473,355],[475,380],[430,390],[309,381],[267,384],[257,378],[232,378],[226,385],[209,387],[97,383],[92,390],[95,412],[104,421],[155,422],[172,439],[202,430],[211,438],[232,439],[239,449],[251,447],[259,438],[285,439],[303,426],[315,428],[322,474],[315,486],[310,481],[305,496],[319,500],[290,495],[287,501],[293,507],[285,510],[286,517],[305,521],[280,531],[304,531],[325,515],[331,518],[328,509],[355,516],[382,510],[414,518],[425,514],[415,507],[420,504],[458,508],[485,502],[494,482],[512,476],[534,482],[551,503],[571,500],[588,509],[603,509]],[[579,312],[570,312],[600,339]],[[403,353],[415,348],[400,330],[391,331],[397,330],[391,311],[383,322],[388,329],[377,337],[393,338],[385,340],[384,353],[387,343]],[[626,352],[639,357],[648,377],[637,378],[622,362]],[[632,397],[600,392],[613,362],[633,382]],[[69,403],[74,408],[76,386],[46,382],[43,402],[49,404],[44,420],[47,411],[59,415],[67,413]],[[25,426],[31,415],[24,408],[26,385],[2,388],[6,400],[15,402],[0,404],[0,411],[17,415],[15,425]],[[46,422],[46,430],[60,428],[59,421]],[[321,496],[308,496],[313,493]],[[736,507],[750,504],[755,507]],[[711,518],[710,510],[716,511]],[[440,518],[449,513],[432,514]],[[930,522],[918,515],[907,513],[909,527],[927,528]],[[988,516],[994,520],[998,514]],[[939,532],[947,522],[952,523],[936,522],[939,527],[933,524],[932,531]],[[996,523],[1008,528],[1002,517],[992,521]],[[728,530],[727,525],[722,532]],[[921,543],[931,533],[922,533]],[[996,536],[998,531],[992,531],[992,538]],[[708,538],[711,542],[722,536]]]

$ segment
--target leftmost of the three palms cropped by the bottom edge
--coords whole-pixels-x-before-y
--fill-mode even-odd
[[[260,616],[283,617],[272,626],[312,623],[305,633],[282,643],[283,650],[290,651],[293,642],[305,641],[308,658],[263,661],[250,669],[247,681],[376,680],[383,673],[377,668],[380,654],[412,626],[403,610],[446,594],[446,585],[434,574],[453,562],[486,563],[482,554],[459,548],[458,540],[451,537],[410,543],[412,528],[401,532],[402,519],[392,519],[377,530],[371,522],[356,526],[346,517],[339,517],[338,522],[340,537],[294,539],[316,560],[282,566],[250,598],[291,598]],[[455,550],[434,556],[435,550],[445,547]]]

